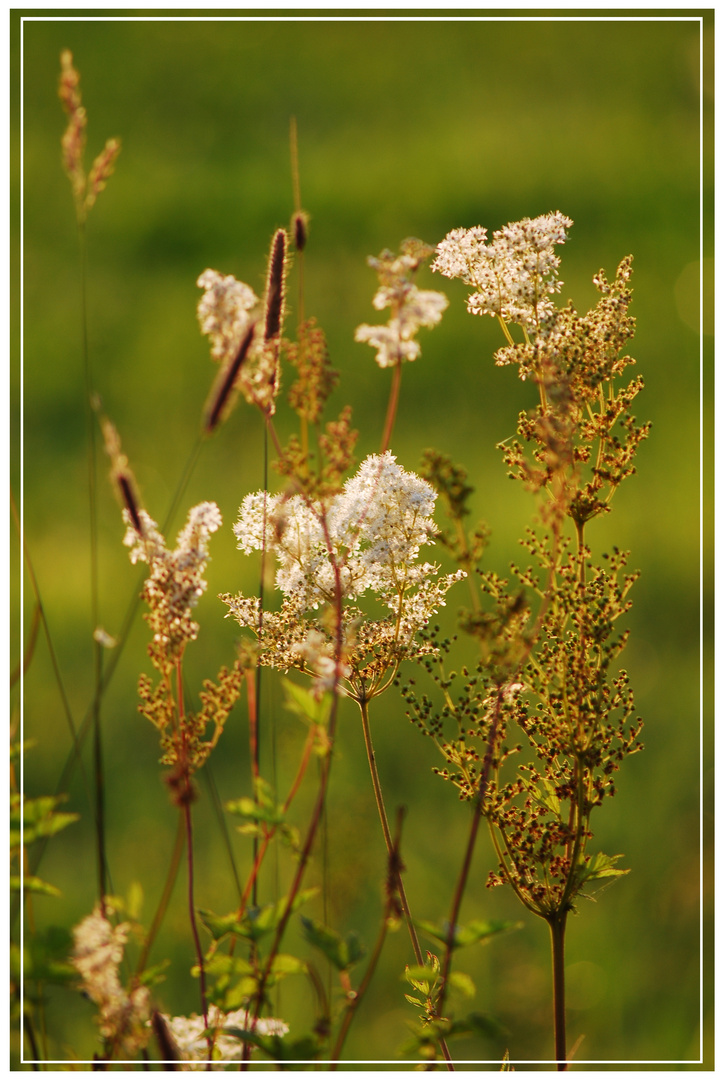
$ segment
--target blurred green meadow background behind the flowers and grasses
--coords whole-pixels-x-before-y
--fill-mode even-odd
[[[16,24],[15,24],[16,25]],[[89,334],[95,384],[117,424],[145,505],[162,521],[196,441],[215,368],[196,321],[196,279],[206,267],[263,287],[272,230],[293,210],[289,124],[298,123],[302,200],[311,215],[305,264],[306,310],[326,332],[342,382],[331,408],[349,402],[361,430],[359,458],[378,448],[389,373],[353,340],[376,322],[370,254],[409,235],[438,243],[459,226],[490,230],[560,210],[575,221],[562,248],[562,299],[594,302],[592,275],[634,255],[638,334],[632,343],[653,420],[638,475],[616,495],[614,513],[590,529],[593,553],[617,543],[642,570],[625,658],[645,719],[644,754],[620,773],[618,795],[593,819],[595,843],[630,867],[597,903],[584,903],[568,933],[568,1036],[580,1037],[581,1068],[699,1056],[700,781],[698,273],[700,238],[700,25],[697,19],[572,18],[557,22],[425,18],[150,21],[86,17],[24,23],[23,63],[23,507],[25,540],[42,593],[75,721],[92,690],[86,434],[83,407],[78,240],[61,166],[65,117],[57,99],[59,53],[70,49],[88,109],[88,165],[109,136],[122,152],[89,221]],[[13,39],[17,70],[21,45]],[[706,91],[708,93],[708,91]],[[710,103],[708,103],[710,104]],[[17,132],[15,133],[17,134]],[[706,188],[706,192],[708,192]],[[17,195],[15,184],[14,194]],[[474,507],[493,529],[488,565],[504,570],[533,511],[506,480],[495,444],[514,430],[534,388],[496,368],[491,320],[465,310],[465,288],[424,271],[424,287],[451,300],[441,325],[423,332],[423,355],[404,372],[393,450],[407,469],[437,446],[463,462]],[[291,322],[297,307],[295,280]],[[705,327],[708,330],[708,327]],[[709,339],[708,339],[709,340]],[[14,377],[18,372],[14,373]],[[17,402],[18,386],[13,392]],[[285,421],[280,418],[284,430]],[[17,432],[17,429],[16,429]],[[138,588],[106,462],[99,462],[101,610],[118,633]],[[216,594],[256,591],[255,563],[237,552],[230,526],[249,490],[262,486],[262,424],[241,405],[205,445],[169,530],[186,509],[214,499],[225,527],[212,541],[201,634],[188,652],[196,688],[233,654],[233,625]],[[18,491],[18,460],[14,463]],[[19,575],[17,576],[19,578]],[[19,582],[13,579],[13,600]],[[26,627],[32,594],[25,577]],[[461,592],[451,594],[454,624]],[[18,645],[14,643],[13,663]],[[156,732],[136,713],[147,670],[145,624],[134,631],[104,700],[109,863],[113,891],[143,885],[149,924],[175,833],[160,781]],[[280,789],[303,741],[266,679],[263,759]],[[55,789],[70,752],[58,689],[41,642],[25,679],[25,789]],[[405,805],[403,854],[418,918],[443,918],[467,838],[454,791],[431,775],[433,747],[405,719],[397,691],[375,704],[377,756],[390,812]],[[245,706],[239,705],[211,759],[222,798],[249,794]],[[90,770],[90,740],[84,747]],[[708,773],[702,780],[708,783]],[[207,787],[197,806],[199,907],[230,910],[236,892]],[[308,781],[299,804],[310,806]],[[40,928],[71,926],[94,903],[95,862],[88,786],[76,770],[70,809],[82,814],[50,845],[41,875],[59,900],[40,899]],[[232,831],[232,823],[230,823]],[[250,846],[232,836],[240,873]],[[358,717],[343,708],[325,839],[330,920],[371,945],[381,913],[384,846]],[[289,862],[279,864],[281,888]],[[320,880],[321,849],[309,872]],[[490,892],[493,865],[483,836],[463,919],[524,913],[511,893]],[[273,864],[263,881],[277,887]],[[151,959],[171,956],[159,988],[165,1011],[198,1010],[188,971],[183,872]],[[309,907],[321,917],[321,904]],[[431,944],[431,943],[427,943]],[[287,944],[294,950],[294,936]],[[304,946],[302,946],[304,948]],[[461,1058],[518,1069],[550,1056],[547,929],[523,929],[457,963],[478,987],[470,1008],[504,1026],[498,1039],[470,1039]],[[388,943],[372,991],[351,1028],[351,1059],[394,1062],[412,1009],[399,973],[410,960],[400,931]],[[49,991],[52,1056],[88,1058],[92,1009],[72,990]],[[308,1005],[291,983],[280,1014],[300,1032]],[[524,1063],[528,1064],[525,1065]],[[484,1066],[481,1066],[484,1067]],[[495,1068],[494,1064],[488,1066]],[[610,1067],[615,1067],[610,1065]],[[691,1067],[695,1067],[694,1064]]]

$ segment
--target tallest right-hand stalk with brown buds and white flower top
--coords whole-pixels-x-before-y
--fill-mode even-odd
[[[407,690],[412,718],[445,759],[438,772],[488,822],[498,860],[488,885],[509,885],[549,926],[559,1069],[567,1063],[567,916],[595,881],[627,873],[616,865],[620,855],[590,852],[590,816],[615,794],[620,762],[641,748],[641,720],[619,669],[628,632],[618,630],[638,575],[626,572],[627,555],[617,549],[594,563],[586,528],[610,511],[650,430],[630,411],[642,379],[619,381],[634,363],[620,354],[634,326],[631,259],[612,283],[602,271],[595,276],[601,298],[587,314],[551,302],[560,287],[554,245],[571,224],[559,213],[525,219],[495,232],[490,244],[484,229],[457,229],[438,247],[432,269],[472,285],[468,310],[500,322],[507,343],[496,363],[517,364],[520,377],[538,386],[539,406],[520,415],[520,437],[501,448],[510,475],[539,497],[541,529],[522,540],[533,565],[512,565],[518,588],[480,571],[487,604],[465,619],[480,661],[463,670],[456,698],[444,673],[441,711]],[[454,473],[439,460],[428,464],[459,536],[466,507],[454,497]],[[468,559],[468,543],[452,546]],[[522,753],[520,737],[528,756],[513,772],[508,762]]]

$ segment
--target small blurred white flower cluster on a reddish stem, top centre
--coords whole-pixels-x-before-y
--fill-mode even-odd
[[[378,259],[370,257],[370,266],[379,272],[380,286],[374,295],[377,311],[391,308],[386,326],[357,327],[354,340],[366,341],[377,350],[379,367],[394,367],[405,360],[416,360],[419,342],[415,335],[420,326],[434,326],[447,307],[443,293],[420,289],[410,280],[410,274],[419,266],[419,258],[402,254],[392,258],[384,253]]]

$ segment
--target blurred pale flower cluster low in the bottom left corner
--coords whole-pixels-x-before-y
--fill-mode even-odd
[[[72,964],[84,993],[98,1008],[101,1035],[113,1043],[121,1057],[134,1057],[149,1037],[148,988],[136,986],[126,991],[118,977],[129,930],[128,922],[112,927],[97,905],[72,931]]]

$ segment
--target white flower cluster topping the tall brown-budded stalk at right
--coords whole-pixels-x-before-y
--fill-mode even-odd
[[[536,334],[554,311],[550,296],[562,284],[554,245],[565,242],[572,224],[559,211],[526,217],[498,229],[492,243],[481,226],[453,229],[438,245],[432,270],[460,278],[474,288],[467,299],[472,314],[497,315]]]

